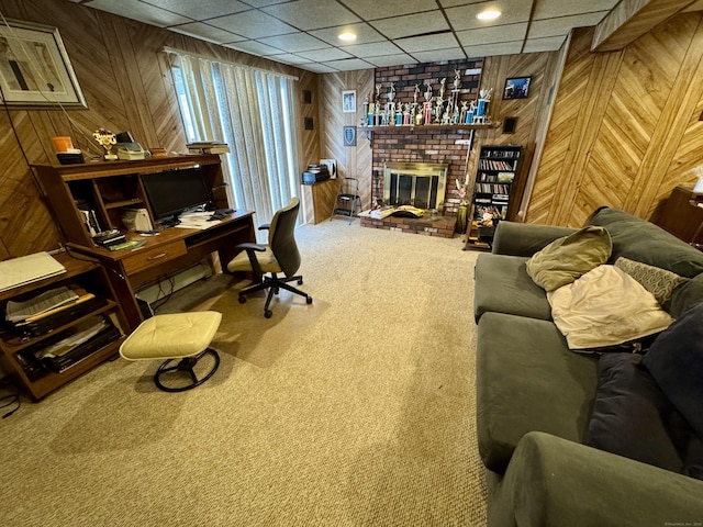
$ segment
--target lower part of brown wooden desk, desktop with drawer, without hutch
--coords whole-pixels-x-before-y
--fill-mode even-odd
[[[130,329],[143,319],[137,305],[136,290],[168,273],[183,269],[216,253],[222,266],[234,258],[237,244],[256,242],[253,212],[237,211],[231,217],[200,231],[172,227],[146,239],[137,249],[108,250],[68,244],[71,250],[98,258],[108,270],[108,277],[116,292]],[[137,238],[130,235],[130,238]]]

